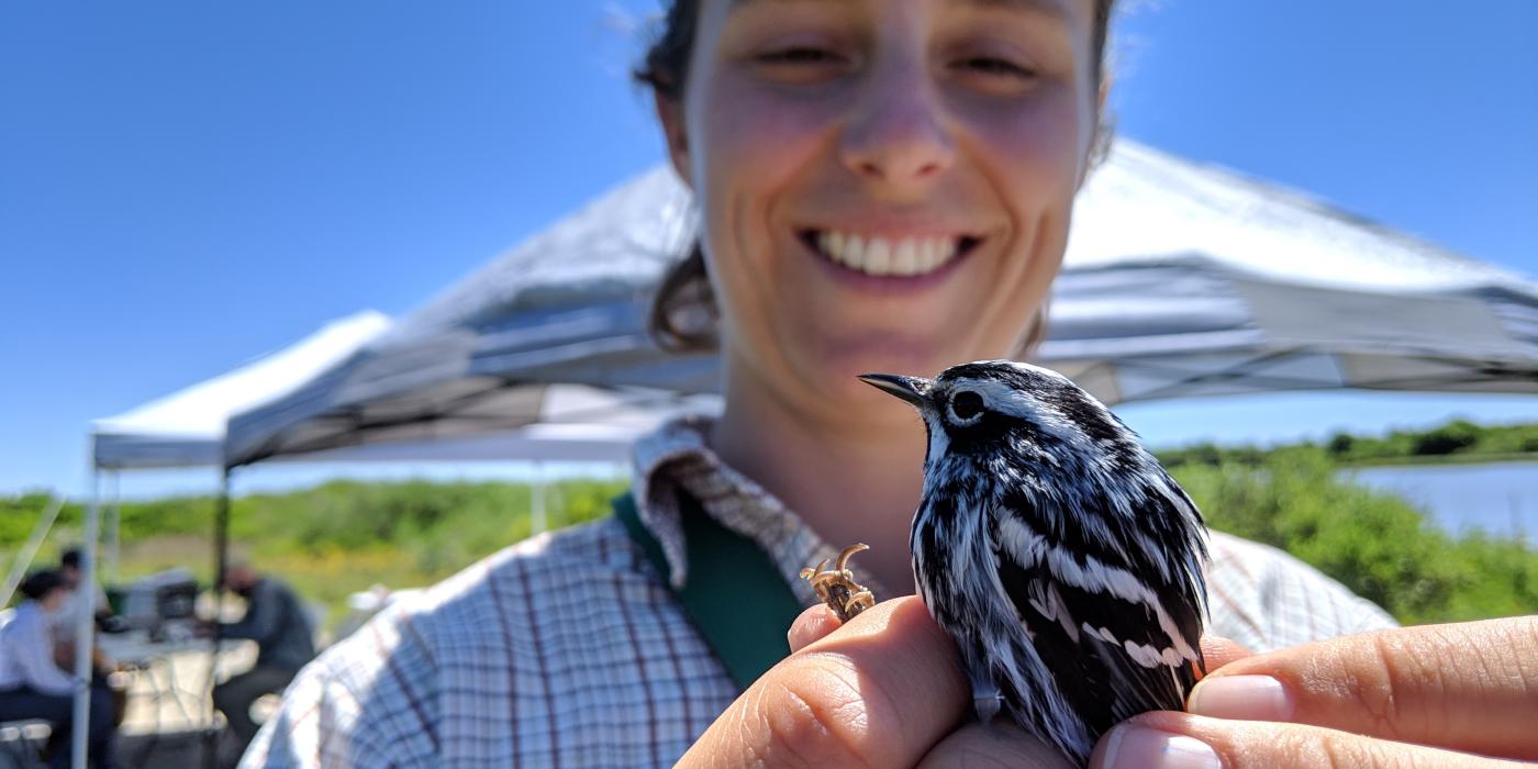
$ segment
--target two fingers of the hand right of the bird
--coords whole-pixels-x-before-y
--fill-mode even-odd
[[[1538,760],[1538,617],[1403,628],[1247,657],[1187,714],[1112,729],[1090,766],[1496,766]],[[1478,754],[1478,755],[1470,755]]]

